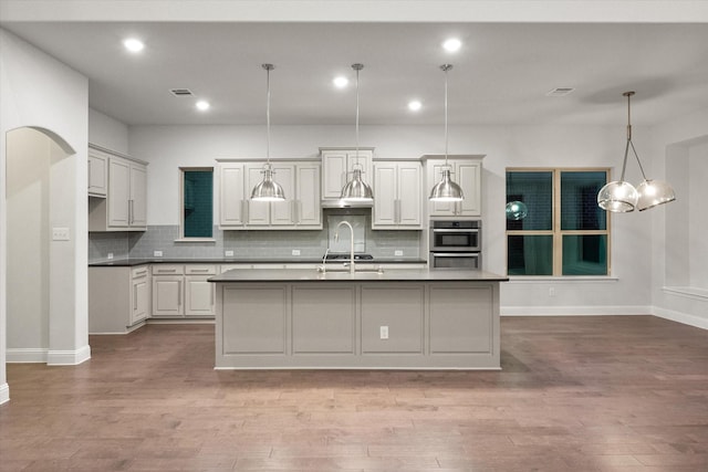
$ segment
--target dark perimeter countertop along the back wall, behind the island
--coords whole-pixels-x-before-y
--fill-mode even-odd
[[[346,261],[327,261],[327,265]],[[322,259],[113,259],[91,262],[90,268],[132,268],[143,264],[321,264]],[[356,261],[356,264],[426,264],[423,259],[373,259]]]

